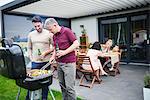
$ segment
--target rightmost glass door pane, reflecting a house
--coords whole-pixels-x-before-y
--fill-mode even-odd
[[[147,59],[146,15],[131,17],[131,60],[145,62]]]

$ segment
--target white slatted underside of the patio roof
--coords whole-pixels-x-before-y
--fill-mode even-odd
[[[15,0],[17,1],[17,0]],[[27,1],[27,0],[24,0]],[[11,12],[75,18],[149,6],[150,0],[31,0]]]

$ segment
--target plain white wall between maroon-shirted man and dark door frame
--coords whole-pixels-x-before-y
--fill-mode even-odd
[[[75,32],[78,40],[81,36],[81,28],[80,25],[84,25],[86,29],[87,35],[89,37],[89,42],[98,41],[98,21],[96,17],[87,17],[80,19],[72,19],[71,20],[71,29]]]

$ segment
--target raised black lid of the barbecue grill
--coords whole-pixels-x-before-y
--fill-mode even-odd
[[[19,45],[0,47],[0,74],[11,79],[26,78],[24,55]]]

